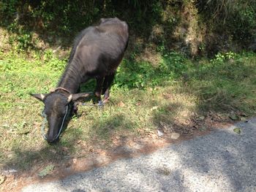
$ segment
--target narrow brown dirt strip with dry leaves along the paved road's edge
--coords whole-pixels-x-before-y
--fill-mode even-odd
[[[159,128],[156,133],[148,133],[143,137],[115,137],[113,138],[113,146],[108,149],[92,147],[88,154],[67,159],[58,166],[54,166],[54,169],[45,177],[39,177],[35,169],[26,172],[12,172],[12,170],[2,172],[0,191],[20,191],[21,188],[32,183],[59,180],[77,172],[86,172],[94,167],[105,166],[120,158],[133,158],[138,155],[153,153],[167,145],[200,137],[211,133],[214,128],[226,128],[234,123],[233,120],[222,119],[211,113],[204,118],[197,118],[193,121],[189,128],[176,127],[171,132],[166,131],[165,125],[162,125],[162,128]]]

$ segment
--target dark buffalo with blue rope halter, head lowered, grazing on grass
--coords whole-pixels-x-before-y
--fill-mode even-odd
[[[45,139],[49,143],[59,140],[61,128],[75,101],[89,96],[79,93],[81,83],[96,78],[94,94],[97,100],[101,101],[101,94],[103,101],[109,99],[110,86],[127,49],[128,39],[126,22],[118,18],[102,18],[98,26],[84,29],[76,37],[55,91],[31,94],[45,104],[43,112],[49,127]]]

